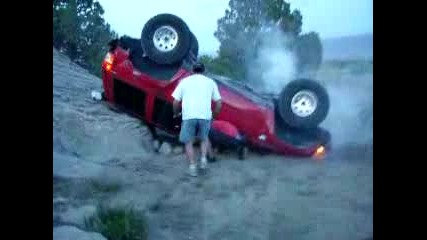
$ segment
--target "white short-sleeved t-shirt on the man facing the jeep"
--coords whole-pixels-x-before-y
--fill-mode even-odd
[[[183,78],[172,97],[182,101],[182,120],[212,119],[211,101],[221,99],[215,81],[201,74]]]

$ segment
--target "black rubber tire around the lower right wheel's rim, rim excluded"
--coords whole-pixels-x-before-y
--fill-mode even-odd
[[[308,91],[317,99],[317,107],[307,116],[294,113],[291,107],[293,97],[301,93],[301,91]],[[315,128],[328,115],[329,104],[329,95],[322,85],[314,80],[299,79],[290,82],[282,90],[278,99],[278,110],[283,121],[291,127]]]

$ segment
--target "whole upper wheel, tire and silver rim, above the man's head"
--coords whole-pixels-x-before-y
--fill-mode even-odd
[[[181,61],[190,50],[191,32],[187,24],[172,14],[159,14],[144,25],[141,45],[144,53],[158,64]]]

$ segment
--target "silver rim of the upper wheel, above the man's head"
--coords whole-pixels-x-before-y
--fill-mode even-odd
[[[161,52],[169,52],[178,44],[178,33],[171,26],[159,27],[153,35],[154,47]]]

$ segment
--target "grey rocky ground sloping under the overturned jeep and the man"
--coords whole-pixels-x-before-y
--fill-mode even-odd
[[[155,153],[147,128],[93,101],[93,89],[99,78],[53,51],[54,239],[105,239],[83,228],[98,203],[142,210],[149,239],[372,236],[371,144],[323,161],[223,154],[190,178],[179,148]]]

